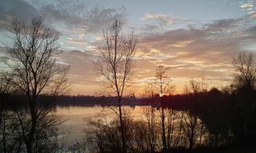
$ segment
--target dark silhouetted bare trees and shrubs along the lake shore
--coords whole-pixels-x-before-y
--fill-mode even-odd
[[[12,22],[13,42],[3,63],[0,82],[0,152],[255,152],[256,65],[251,53],[233,60],[231,84],[217,89],[205,80],[191,80],[184,94],[175,95],[168,67],[158,66],[145,86],[143,99],[125,97],[130,86],[137,37],[122,35],[122,23],[113,22],[104,33],[100,56],[94,63],[104,75],[106,89],[100,100],[109,101],[115,115],[88,119],[82,141],[67,141],[55,114],[57,98],[65,97],[68,67],[56,62],[58,34],[44,27],[42,18],[31,24]],[[109,43],[111,42],[111,43]],[[103,63],[103,64],[102,64]],[[106,97],[111,97],[107,98]],[[145,104],[133,118],[125,101]],[[59,105],[61,102],[59,102]],[[63,103],[62,103],[63,104]],[[67,105],[64,103],[63,105]],[[76,105],[76,104],[75,104]],[[106,106],[110,106],[106,105]],[[85,135],[85,136],[83,136]]]

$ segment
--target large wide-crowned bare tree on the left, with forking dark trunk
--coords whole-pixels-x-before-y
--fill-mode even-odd
[[[37,150],[35,142],[39,126],[48,126],[45,119],[51,112],[51,104],[57,95],[67,90],[66,73],[69,67],[57,64],[61,53],[57,50],[59,35],[44,26],[43,18],[33,18],[30,24],[15,19],[10,33],[12,43],[8,46],[4,63],[14,75],[15,86],[27,97],[29,116],[26,118],[29,122],[22,120],[18,112],[17,116],[26,150],[31,153]],[[38,99],[40,95],[50,98],[42,102]]]

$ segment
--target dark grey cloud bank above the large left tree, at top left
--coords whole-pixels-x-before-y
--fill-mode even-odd
[[[87,33],[96,33],[115,18],[124,19],[125,16],[125,7],[87,7],[83,1],[56,1],[1,1],[0,30],[5,30],[13,18],[30,21],[35,16],[43,16],[49,27],[67,31],[82,28]]]

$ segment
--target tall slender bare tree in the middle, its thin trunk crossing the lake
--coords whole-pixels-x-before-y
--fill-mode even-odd
[[[134,55],[138,38],[133,31],[128,35],[121,33],[122,22],[115,20],[113,24],[103,31],[103,39],[99,45],[100,55],[94,62],[95,69],[102,76],[106,85],[104,94],[117,97],[119,105],[119,121],[122,133],[122,148],[126,152],[126,140],[122,116],[122,98],[126,92],[128,82],[134,73]]]

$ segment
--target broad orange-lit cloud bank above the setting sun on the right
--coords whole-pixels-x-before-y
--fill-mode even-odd
[[[252,51],[248,44],[256,37],[255,26],[250,25],[253,21],[244,16],[214,20],[200,27],[148,33],[137,46],[137,69],[151,69],[151,73],[141,73],[149,77],[154,65],[166,65],[172,68],[170,75],[174,78],[195,78],[205,71],[209,77],[228,79],[233,71],[233,56]]]

